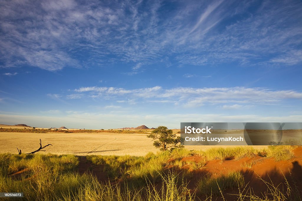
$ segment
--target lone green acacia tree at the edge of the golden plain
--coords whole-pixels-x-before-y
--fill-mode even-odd
[[[168,129],[165,126],[159,126],[152,131],[151,134],[147,135],[148,138],[155,140],[153,145],[156,148],[160,148],[161,151],[166,151],[169,148],[182,148],[183,138],[176,136],[171,129]],[[152,140],[152,141],[153,141]]]

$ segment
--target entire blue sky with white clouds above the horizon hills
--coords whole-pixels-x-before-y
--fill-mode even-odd
[[[0,1],[0,122],[302,122],[302,2]]]

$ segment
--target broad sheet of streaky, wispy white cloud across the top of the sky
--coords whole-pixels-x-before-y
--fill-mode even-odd
[[[161,1],[1,1],[1,66],[58,71],[124,63],[125,73],[137,74],[159,63],[302,61],[299,1],[263,1],[254,11],[250,1],[170,3],[168,15]]]

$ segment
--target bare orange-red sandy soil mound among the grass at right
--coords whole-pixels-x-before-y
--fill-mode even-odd
[[[252,158],[242,158],[239,160],[212,160],[198,170],[192,171],[192,179],[189,183],[189,188],[194,188],[196,182],[204,175],[210,175],[210,177],[220,177],[230,171],[240,171],[245,179],[245,184],[251,187],[258,195],[267,191],[267,185],[264,181],[272,183],[276,186],[281,184],[279,188],[286,189],[285,178],[292,186],[297,185],[297,181],[302,181],[302,147],[298,147],[294,150],[295,157],[290,160],[275,161],[274,159],[267,159],[256,155]],[[199,162],[203,161],[200,156],[190,156],[182,159],[184,162]],[[246,167],[249,165],[251,167]],[[261,179],[264,181],[262,181]],[[299,182],[300,184],[300,182]],[[300,184],[302,187],[302,184]],[[299,186],[300,187],[300,186]],[[238,193],[238,190],[226,190],[224,198],[226,200],[232,200],[234,197],[227,194]],[[218,198],[217,200],[220,200]]]

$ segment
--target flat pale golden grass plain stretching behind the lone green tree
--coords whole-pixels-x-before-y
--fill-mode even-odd
[[[179,134],[178,134],[179,135]],[[143,156],[148,152],[156,153],[159,149],[153,146],[147,134],[125,133],[16,133],[0,132],[0,153],[32,152],[39,148],[39,139],[42,146],[50,143],[45,152],[52,154],[75,155],[133,155]],[[235,146],[185,146],[186,149],[206,150],[214,147]],[[266,148],[267,146],[253,146]]]

